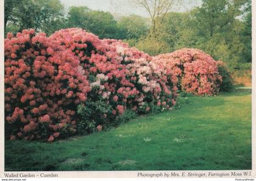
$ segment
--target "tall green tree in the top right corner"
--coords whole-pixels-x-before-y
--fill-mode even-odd
[[[203,0],[202,7],[197,8],[192,19],[196,30],[196,48],[221,59],[232,69],[240,69],[249,52],[246,42],[251,44],[250,37],[244,37],[244,20],[247,14],[244,7],[248,0]],[[249,27],[251,29],[251,27]],[[251,34],[251,32],[249,32]],[[249,50],[251,51],[251,50]]]

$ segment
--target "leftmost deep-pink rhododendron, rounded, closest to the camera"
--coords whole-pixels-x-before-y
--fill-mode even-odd
[[[76,132],[76,106],[91,90],[79,59],[34,30],[8,34],[5,43],[5,130],[25,140]]]

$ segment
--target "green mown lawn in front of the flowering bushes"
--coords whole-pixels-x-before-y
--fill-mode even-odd
[[[5,141],[5,171],[251,169],[251,94],[181,99],[107,132]]]

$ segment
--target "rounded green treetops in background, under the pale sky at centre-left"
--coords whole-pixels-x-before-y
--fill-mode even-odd
[[[70,7],[67,27],[81,27],[99,38],[137,39],[148,32],[146,20],[141,16],[123,16],[118,22],[110,12],[90,10],[88,7]]]

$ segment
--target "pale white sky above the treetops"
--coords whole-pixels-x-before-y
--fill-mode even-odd
[[[111,12],[116,16],[123,15],[140,15],[149,17],[148,12],[141,7],[136,7],[130,3],[129,0],[60,0],[68,9],[70,6],[87,6],[92,10],[102,10],[104,12]],[[175,6],[172,11],[185,12],[192,9],[195,6],[201,5],[201,0],[183,0],[184,3],[179,6]]]

